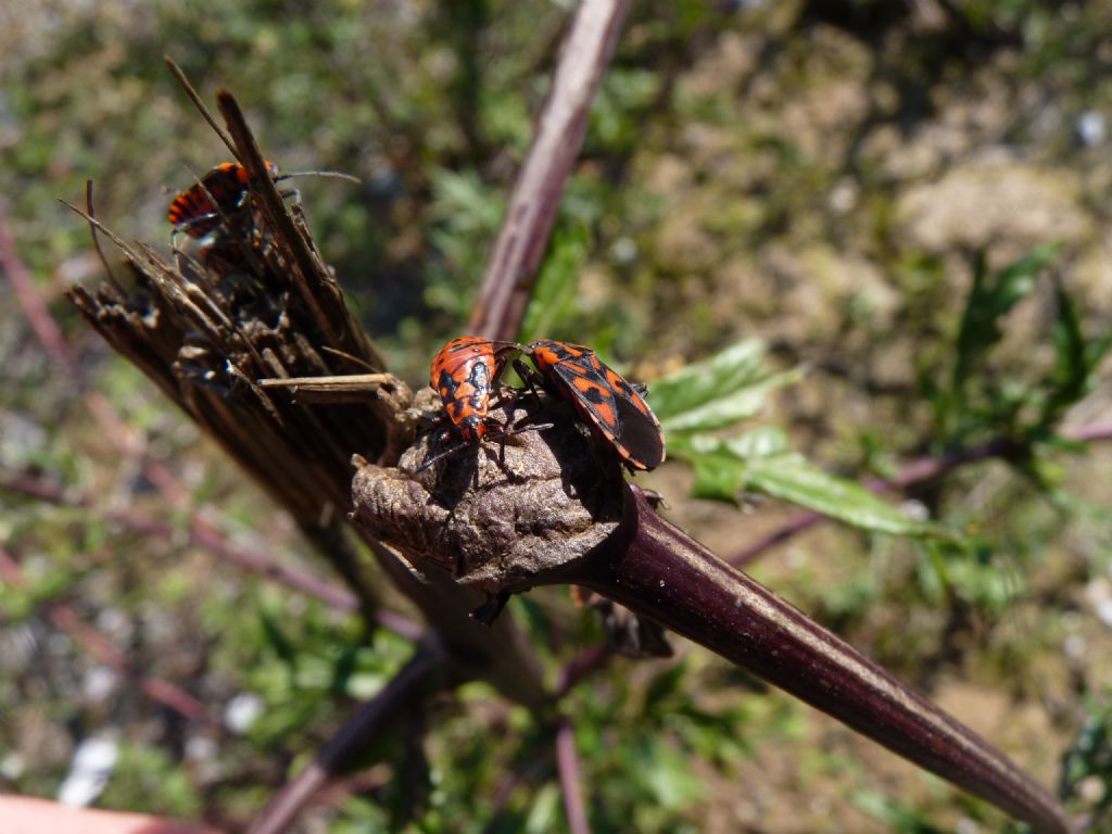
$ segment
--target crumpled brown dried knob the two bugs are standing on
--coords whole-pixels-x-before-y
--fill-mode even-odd
[[[596,449],[564,403],[520,398],[493,417],[520,434],[463,445],[418,473],[460,444],[433,431],[397,468],[361,466],[353,515],[418,569],[431,563],[497,594],[523,589],[604,542],[622,519],[625,481],[617,459]],[[522,430],[530,424],[552,427]]]

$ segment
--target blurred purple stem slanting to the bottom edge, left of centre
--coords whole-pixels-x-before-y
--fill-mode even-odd
[[[446,674],[444,653],[423,648],[326,744],[298,776],[279,791],[247,834],[279,834],[288,831],[301,810],[329,783],[344,775],[358,756],[393,722],[408,709],[425,703],[429,687]]]

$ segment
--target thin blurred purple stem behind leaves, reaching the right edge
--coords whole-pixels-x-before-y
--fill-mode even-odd
[[[1082,426],[1080,428],[1066,428],[1060,434],[1068,440],[1078,440],[1082,443],[1109,440],[1112,439],[1112,424],[1094,423],[1090,426]],[[932,478],[945,475],[946,473],[956,469],[960,466],[964,466],[965,464],[972,464],[977,460],[986,460],[993,457],[1006,457],[1009,454],[1014,453],[1015,449],[1016,446],[1014,443],[997,439],[991,440],[983,446],[974,446],[971,449],[964,449],[962,451],[953,451],[937,457],[921,457],[902,467],[900,471],[896,473],[895,477],[891,479],[872,478],[865,483],[865,487],[878,494],[892,493],[896,489],[905,489],[913,484],[922,484],[925,480],[931,480]],[[778,529],[773,530],[764,538],[754,542],[752,545],[727,557],[726,562],[734,567],[744,567],[745,565],[755,562],[758,556],[767,553],[773,547],[782,545],[801,533],[811,529],[816,524],[821,524],[826,520],[830,520],[828,517],[824,516],[822,513],[814,513],[812,510],[798,513]]]

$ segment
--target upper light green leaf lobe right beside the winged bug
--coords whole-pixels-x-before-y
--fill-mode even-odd
[[[709,431],[756,415],[768,391],[800,376],[773,373],[764,356],[764,342],[748,339],[654,383],[653,411],[665,435]]]

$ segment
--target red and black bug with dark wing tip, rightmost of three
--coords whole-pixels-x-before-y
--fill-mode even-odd
[[[525,348],[553,394],[570,401],[633,469],[664,461],[661,421],[644,397],[595,351],[568,341],[538,339]]]

